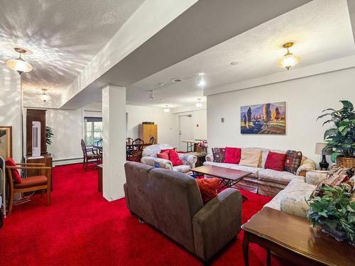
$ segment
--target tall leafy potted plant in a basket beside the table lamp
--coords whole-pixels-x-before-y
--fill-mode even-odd
[[[324,141],[327,146],[324,147],[323,153],[337,153],[337,165],[343,167],[355,167],[355,111],[354,105],[350,101],[341,101],[343,108],[334,110],[332,108],[325,109],[317,118],[330,116],[330,119],[323,123],[334,123],[334,128],[329,128],[324,132]]]

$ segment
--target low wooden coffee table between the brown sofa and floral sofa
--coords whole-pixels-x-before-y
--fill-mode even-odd
[[[214,165],[203,165],[193,168],[191,171],[196,174],[207,174],[212,177],[218,177],[221,179],[221,182],[218,186],[219,191],[227,187],[233,187],[236,183],[240,182],[241,179],[251,174],[251,172],[234,170]],[[244,199],[246,198],[244,197]]]

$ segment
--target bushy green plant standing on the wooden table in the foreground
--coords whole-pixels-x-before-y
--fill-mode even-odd
[[[320,188],[322,196],[310,197],[307,219],[312,226],[321,226],[331,232],[339,232],[355,245],[355,201],[351,196],[349,184],[339,187],[324,185]]]

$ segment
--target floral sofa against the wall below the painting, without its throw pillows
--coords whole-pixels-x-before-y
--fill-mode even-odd
[[[302,157],[302,162],[300,167],[298,167],[296,174],[292,174],[286,171],[276,171],[271,169],[265,169],[266,157],[269,151],[274,153],[285,153],[285,150],[268,150],[265,148],[244,148],[245,150],[261,150],[261,160],[258,167],[249,167],[245,165],[229,164],[224,162],[214,162],[213,155],[206,156],[206,162],[204,165],[216,165],[219,167],[226,167],[235,170],[242,170],[251,172],[248,177],[244,177],[241,182],[236,184],[236,187],[241,187],[242,189],[249,190],[251,192],[266,195],[275,196],[281,190],[291,182],[293,179],[298,179],[300,181],[305,180],[305,175],[307,171],[315,170],[315,162],[307,157]]]

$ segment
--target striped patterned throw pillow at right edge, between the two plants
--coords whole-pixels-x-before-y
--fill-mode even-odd
[[[325,177],[323,182],[318,184],[315,191],[312,193],[312,196],[321,196],[320,188],[326,184],[330,187],[339,186],[340,184],[344,184],[344,183],[351,184],[352,182],[348,182],[348,181],[349,178],[352,177],[353,175],[354,175],[354,168],[332,165],[332,167],[330,168],[327,174],[327,177]]]

